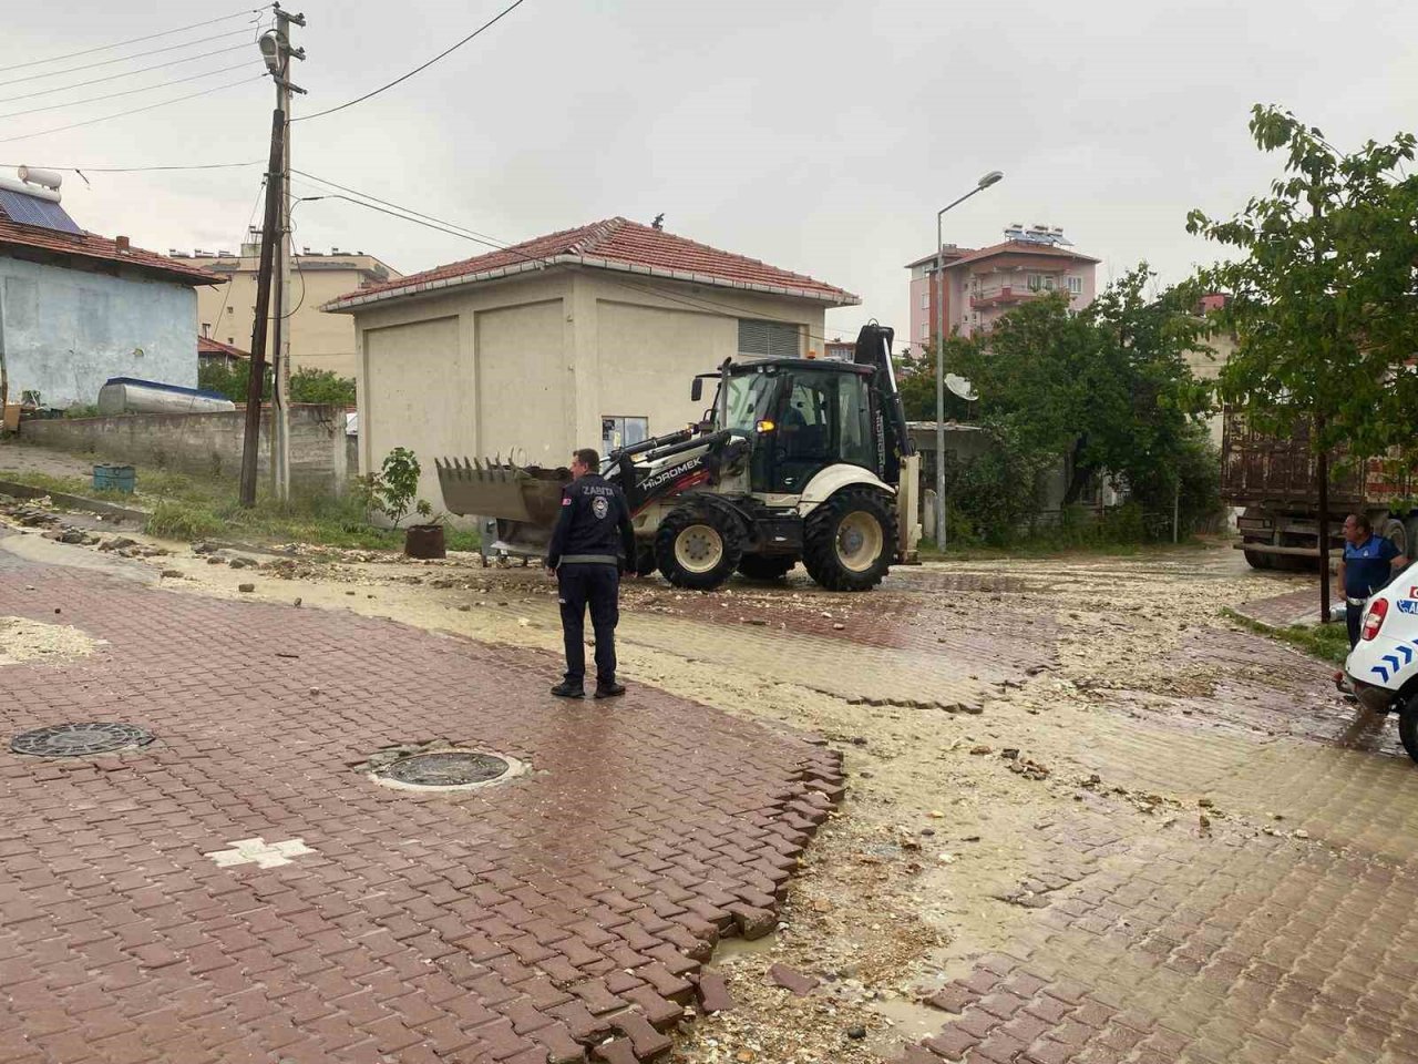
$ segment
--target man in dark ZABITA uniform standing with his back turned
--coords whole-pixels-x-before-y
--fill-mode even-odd
[[[601,457],[586,447],[571,455],[571,482],[562,491],[562,514],[552,532],[546,567],[556,573],[566,638],[566,678],[557,698],[586,697],[586,606],[596,633],[596,697],[625,694],[615,682],[615,623],[621,569],[635,559],[635,528],[625,495],[600,474]]]

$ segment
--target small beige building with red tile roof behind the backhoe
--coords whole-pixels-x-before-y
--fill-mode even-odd
[[[831,306],[859,302],[804,274],[610,218],[349,292],[359,465],[394,447],[434,458],[566,465],[696,421],[691,379],[726,358],[822,353]]]

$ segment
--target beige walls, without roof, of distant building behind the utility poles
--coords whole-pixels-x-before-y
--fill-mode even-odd
[[[364,255],[340,257],[353,268],[328,270],[311,265],[291,271],[291,305],[298,308],[291,314],[291,366],[292,369],[328,369],[342,377],[354,376],[354,322],[349,315],[325,314],[323,304],[353,292],[370,275],[367,272],[377,260]],[[252,257],[196,258],[197,265],[214,265],[240,261],[240,270],[228,274],[231,281],[216,288],[197,291],[197,326],[210,325],[213,339],[233,343],[241,350],[251,348],[251,328],[255,322],[257,268],[259,260]],[[380,264],[381,267],[383,264]],[[227,271],[221,271],[227,272]],[[390,271],[391,277],[398,277]],[[227,289],[231,289],[228,297]],[[303,289],[303,298],[302,298]]]

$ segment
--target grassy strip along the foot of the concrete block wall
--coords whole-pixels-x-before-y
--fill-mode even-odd
[[[197,480],[182,472],[140,470],[138,491],[94,491],[84,477],[0,470],[0,480],[50,492],[123,502],[149,512],[143,531],[163,539],[244,539],[265,543],[311,543],[354,550],[403,550],[403,529],[376,528],[350,497],[309,497],[281,502],[264,489],[257,505],[242,509],[235,481]],[[264,485],[262,485],[264,487]],[[476,529],[447,528],[450,550],[476,550]]]

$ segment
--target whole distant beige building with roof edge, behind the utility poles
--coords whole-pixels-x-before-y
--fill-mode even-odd
[[[187,258],[183,253],[176,253]],[[234,348],[251,346],[257,314],[257,275],[261,268],[261,235],[252,231],[241,254],[194,251],[190,260],[221,277],[214,288],[197,297],[201,333]],[[354,288],[380,285],[398,278],[397,270],[363,251],[329,254],[302,248],[291,260],[291,369],[329,370],[354,376],[354,325],[349,318],[320,314],[320,306]]]

